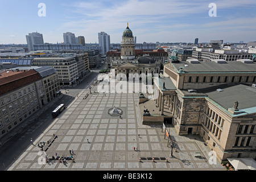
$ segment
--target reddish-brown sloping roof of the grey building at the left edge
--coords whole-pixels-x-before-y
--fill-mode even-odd
[[[4,72],[0,76],[0,96],[42,79],[34,69],[19,72]]]

